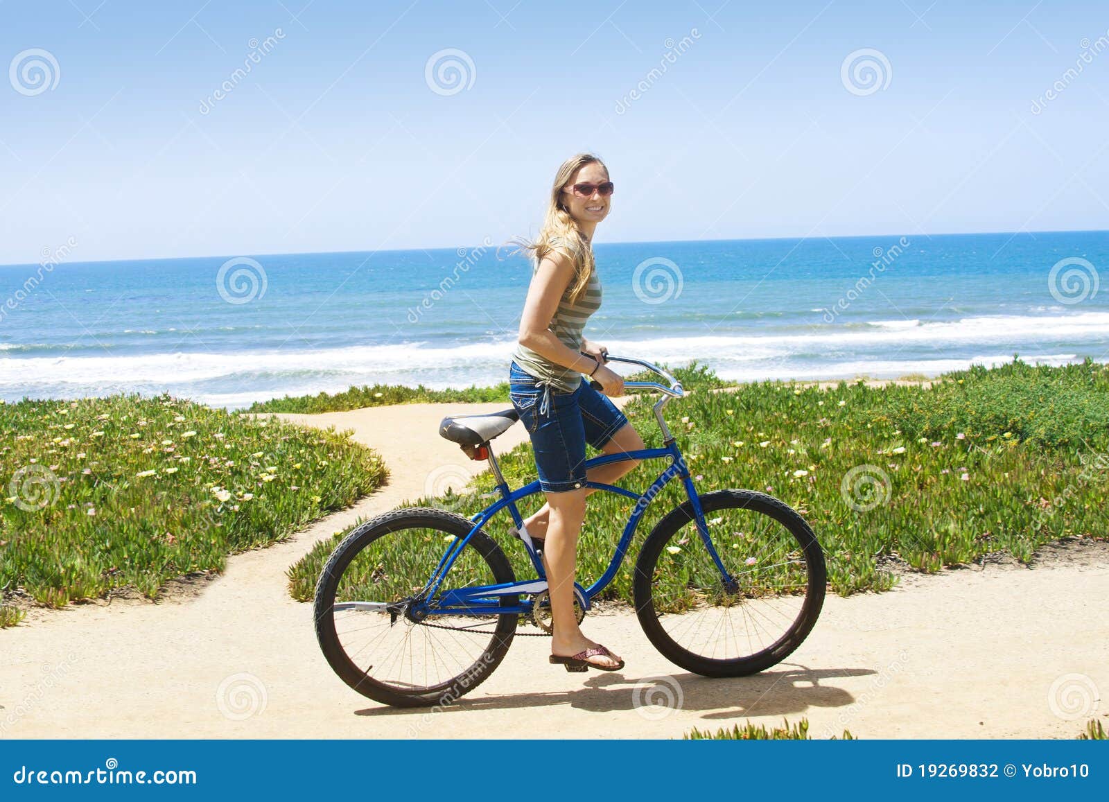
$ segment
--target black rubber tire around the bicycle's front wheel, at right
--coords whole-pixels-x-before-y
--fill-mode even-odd
[[[648,639],[668,660],[693,673],[704,677],[745,677],[764,671],[781,662],[792,653],[812,631],[824,603],[827,569],[824,552],[816,536],[795,510],[781,500],[754,490],[715,490],[700,497],[702,511],[708,519],[711,512],[726,509],[743,509],[760,516],[767,516],[796,541],[804,558],[807,587],[798,615],[788,629],[770,646],[750,656],[733,659],[716,659],[695,653],[680,644],[660,620],[655,601],[655,571],[663,549],[694,520],[693,507],[689,500],[671,510],[651,530],[635,562],[633,595],[635,615]],[[695,525],[694,525],[695,528]],[[700,544],[700,539],[696,540]],[[722,542],[714,545],[720,552]],[[679,549],[680,550],[680,549]],[[700,551],[708,559],[703,545]],[[723,558],[722,558],[723,559]],[[750,564],[749,564],[750,565]],[[713,568],[713,570],[716,570]],[[719,570],[716,570],[719,578]],[[740,603],[743,603],[742,600]],[[664,613],[663,613],[664,615]],[[689,613],[693,615],[693,613]],[[745,613],[744,613],[745,615]],[[723,631],[723,627],[721,630]],[[715,629],[713,629],[713,632]],[[725,635],[726,638],[726,635]]]

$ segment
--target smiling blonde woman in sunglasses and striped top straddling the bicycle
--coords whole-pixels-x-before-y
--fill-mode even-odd
[[[628,418],[606,397],[623,395],[623,378],[604,365],[607,349],[582,335],[601,304],[591,243],[597,224],[609,214],[612,189],[608,167],[592,154],[580,153],[559,167],[542,230],[535,242],[522,243],[535,272],[509,368],[512,406],[531,437],[547,496],[523,528],[543,552],[553,628],[550,661],[568,671],[615,671],[624,664],[578,627],[574,562],[586,496],[594,491],[586,487],[587,479],[611,484],[640,460],[587,471],[586,443],[604,454],[644,448]],[[599,382],[604,395],[590,380]],[[515,528],[513,534],[519,536]]]

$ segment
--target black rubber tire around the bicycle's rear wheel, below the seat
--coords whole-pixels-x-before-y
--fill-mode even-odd
[[[335,551],[332,552],[316,582],[313,605],[316,638],[319,641],[319,647],[328,664],[350,688],[375,701],[394,707],[410,708],[446,704],[477,688],[500,664],[500,661],[503,660],[505,654],[508,652],[509,646],[511,646],[512,637],[516,632],[518,621],[516,613],[497,616],[496,628],[490,632],[489,643],[482,649],[480,658],[472,664],[464,668],[459,674],[426,688],[416,686],[401,688],[397,684],[390,684],[389,682],[370,677],[369,670],[374,667],[370,666],[363,669],[356,663],[347,654],[340,636],[336,631],[334,611],[336,591],[344,571],[367,547],[394,532],[409,529],[440,531],[447,537],[461,538],[470,531],[472,526],[472,521],[455,512],[433,507],[409,507],[383,514],[362,524],[352,530],[336,547]],[[466,549],[474,549],[474,554],[485,561],[494,582],[516,581],[516,576],[505,552],[501,551],[500,547],[485,531],[479,530],[475,532],[474,537],[467,544]],[[464,550],[462,554],[467,555],[468,552]],[[434,565],[431,568],[434,568]],[[421,587],[429,576],[430,570],[428,576],[406,579],[413,587]],[[450,573],[448,572],[447,579],[449,580],[449,578]],[[450,587],[449,583],[446,587]],[[516,605],[517,597],[501,597],[500,603],[502,607]],[[434,622],[436,618],[429,617],[429,620]],[[399,621],[399,623],[401,626],[421,626],[420,623],[411,625],[407,619]],[[378,626],[384,626],[384,622]],[[389,623],[390,629],[394,626],[395,622]]]

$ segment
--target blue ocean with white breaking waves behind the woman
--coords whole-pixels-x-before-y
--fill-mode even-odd
[[[505,380],[531,276],[498,243],[0,266],[0,397],[227,408],[376,382]],[[735,379],[1109,356],[1109,232],[594,245],[586,336]],[[620,369],[620,368],[618,368]]]

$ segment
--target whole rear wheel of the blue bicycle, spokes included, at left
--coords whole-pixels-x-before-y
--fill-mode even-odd
[[[474,524],[441,509],[386,512],[354,529],[332,554],[316,583],[319,646],[335,672],[385,704],[450,702],[484,682],[505,658],[517,615],[410,615],[444,551]],[[515,581],[505,552],[477,531],[439,592]],[[516,596],[500,605],[517,603]],[[385,605],[389,605],[385,609]]]

